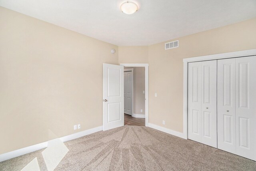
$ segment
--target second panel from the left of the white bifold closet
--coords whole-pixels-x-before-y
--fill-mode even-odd
[[[217,60],[202,62],[202,143],[217,147]]]

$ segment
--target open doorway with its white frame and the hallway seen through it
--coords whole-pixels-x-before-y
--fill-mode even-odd
[[[124,66],[124,125],[148,124],[148,64]]]

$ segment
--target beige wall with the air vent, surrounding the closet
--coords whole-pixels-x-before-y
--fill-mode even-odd
[[[182,132],[182,59],[256,48],[256,18],[178,40],[179,48],[170,50],[164,43],[173,40],[149,46],[149,122]]]

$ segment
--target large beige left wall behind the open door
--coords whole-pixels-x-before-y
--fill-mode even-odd
[[[0,154],[101,126],[102,63],[117,46],[0,7]]]

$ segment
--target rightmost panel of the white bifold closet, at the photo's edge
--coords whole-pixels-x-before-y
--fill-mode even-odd
[[[236,58],[236,154],[256,160],[256,56]]]

